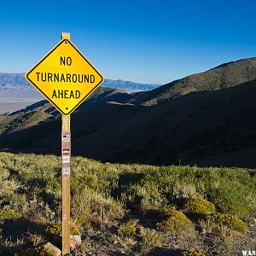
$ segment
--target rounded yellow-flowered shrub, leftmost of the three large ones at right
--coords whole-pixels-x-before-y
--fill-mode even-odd
[[[157,224],[157,229],[177,233],[179,231],[192,230],[193,224],[183,212],[169,209],[165,211],[165,219]]]

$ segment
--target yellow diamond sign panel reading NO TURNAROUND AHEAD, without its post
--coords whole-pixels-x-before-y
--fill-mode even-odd
[[[25,77],[63,115],[72,113],[103,82],[101,73],[65,38]]]

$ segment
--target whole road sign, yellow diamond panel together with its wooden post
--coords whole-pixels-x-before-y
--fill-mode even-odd
[[[102,74],[61,33],[61,42],[25,74],[25,78],[58,109],[61,128],[62,255],[70,253],[70,114],[103,82]]]

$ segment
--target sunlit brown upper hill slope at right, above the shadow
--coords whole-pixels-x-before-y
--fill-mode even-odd
[[[139,92],[133,97],[132,102],[146,106],[155,105],[192,91],[219,90],[253,79],[256,79],[256,58],[232,61],[206,72],[178,79],[154,90]]]

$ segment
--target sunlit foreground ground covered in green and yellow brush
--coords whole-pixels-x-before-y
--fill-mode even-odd
[[[72,255],[240,256],[255,246],[253,170],[72,163],[71,232],[82,235]],[[42,245],[61,227],[60,157],[0,153],[0,168],[1,255],[49,255]]]

